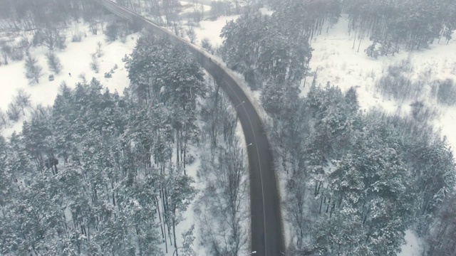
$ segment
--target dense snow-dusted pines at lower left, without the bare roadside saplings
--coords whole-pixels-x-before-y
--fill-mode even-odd
[[[129,72],[143,48],[160,43],[148,57],[163,57],[150,72],[170,72],[161,90],[145,97],[132,80],[121,97],[95,79],[61,85],[53,107],[0,138],[0,254],[160,255],[161,242],[166,252],[190,251],[189,240],[176,244],[175,227],[196,192],[185,155],[198,141],[204,80],[189,53],[145,39]]]

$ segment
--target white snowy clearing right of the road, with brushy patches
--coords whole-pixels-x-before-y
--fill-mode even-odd
[[[326,27],[325,27],[326,28]],[[456,34],[447,44],[445,40],[430,45],[430,49],[405,51],[394,56],[381,56],[378,59],[368,57],[364,50],[371,45],[368,38],[361,41],[359,52],[358,38],[353,49],[354,31],[348,35],[348,19],[343,16],[340,21],[321,36],[317,36],[311,42],[314,48],[310,68],[317,70],[317,84],[325,85],[331,82],[338,85],[342,90],[350,87],[357,87],[359,102],[364,110],[371,107],[382,107],[385,111],[408,112],[410,103],[395,102],[382,97],[375,90],[375,81],[388,72],[390,65],[398,65],[403,60],[410,60],[412,71],[406,77],[413,81],[430,82],[432,80],[445,80],[451,78],[456,80]],[[306,89],[312,82],[312,78],[306,80]],[[442,134],[447,136],[452,148],[456,148],[456,107],[437,106],[437,102],[430,97],[430,86],[424,88],[423,94],[418,97],[427,103],[429,107],[438,107],[439,115],[433,120],[437,129],[442,130]]]

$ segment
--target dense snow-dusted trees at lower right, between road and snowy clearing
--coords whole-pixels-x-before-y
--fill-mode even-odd
[[[304,100],[279,95],[265,107],[286,176],[291,252],[395,255],[409,228],[430,241],[453,232],[443,226],[455,159],[430,124],[377,110],[361,114],[353,88],[344,94],[313,85]],[[262,100],[269,102],[266,94]],[[435,243],[432,255],[450,250],[454,238],[445,239],[448,247]]]

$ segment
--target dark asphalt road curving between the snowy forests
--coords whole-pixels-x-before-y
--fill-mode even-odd
[[[156,36],[169,38],[172,43],[188,47],[202,67],[211,74],[227,93],[229,100],[237,107],[237,114],[244,130],[247,142],[250,169],[250,210],[251,210],[251,246],[255,255],[285,255],[284,238],[281,226],[279,194],[274,174],[272,151],[264,125],[252,102],[239,87],[237,78],[231,75],[212,55],[197,46],[187,43],[170,31],[157,26],[152,21],[129,11],[109,0],[98,0],[108,11],[126,20],[147,28]]]

